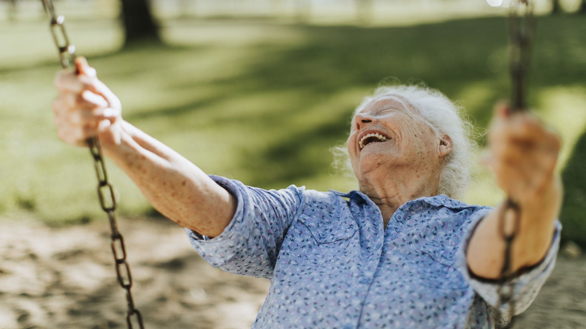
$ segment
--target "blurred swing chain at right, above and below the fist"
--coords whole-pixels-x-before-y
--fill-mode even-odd
[[[512,80],[511,112],[527,111],[527,73],[531,59],[531,46],[535,31],[535,19],[533,7],[529,0],[519,0],[518,4],[511,6],[509,15],[509,37],[510,37],[510,74]],[[501,307],[508,305],[507,313],[510,314],[510,321],[502,326],[508,328],[513,325],[515,315],[515,285],[513,277],[515,272],[512,269],[512,244],[519,233],[521,208],[516,201],[507,196],[502,213],[499,217],[499,231],[505,241],[503,267],[500,271],[500,286],[498,289],[498,307],[496,307],[496,321],[501,320]],[[507,229],[505,221],[512,220],[512,228]]]

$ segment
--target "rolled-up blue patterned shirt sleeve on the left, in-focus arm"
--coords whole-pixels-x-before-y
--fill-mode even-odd
[[[222,234],[212,239],[186,228],[193,248],[216,268],[270,279],[305,187],[267,191],[225,177],[209,177],[236,197],[236,213]]]

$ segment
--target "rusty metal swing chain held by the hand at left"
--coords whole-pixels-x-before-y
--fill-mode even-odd
[[[45,11],[51,19],[51,33],[53,40],[59,50],[59,59],[63,68],[74,70],[75,60],[75,46],[69,43],[69,38],[65,32],[63,22],[64,16],[57,16],[51,0],[42,0]],[[94,159],[94,167],[96,168],[96,176],[98,178],[98,198],[102,210],[108,215],[110,220],[110,228],[112,235],[110,236],[110,246],[112,254],[114,255],[114,264],[116,269],[116,276],[118,283],[126,292],[126,300],[128,303],[128,311],[126,315],[126,323],[129,329],[132,329],[132,320],[135,318],[139,328],[144,329],[142,324],[142,316],[138,309],[134,306],[134,299],[132,298],[132,275],[130,273],[130,266],[126,260],[126,248],[124,246],[124,238],[118,225],[116,224],[116,197],[114,195],[114,187],[108,181],[108,173],[102,156],[100,140],[96,137],[87,139],[87,146],[90,148],[91,156]]]

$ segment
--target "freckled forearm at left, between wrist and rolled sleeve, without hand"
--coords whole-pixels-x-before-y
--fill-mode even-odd
[[[230,223],[236,202],[185,157],[123,122],[121,141],[105,145],[110,157],[169,219],[215,237]]]

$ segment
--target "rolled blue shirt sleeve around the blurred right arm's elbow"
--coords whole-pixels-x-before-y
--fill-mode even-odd
[[[469,229],[462,239],[456,262],[460,272],[468,281],[469,285],[490,307],[492,307],[492,310],[490,311],[493,313],[495,313],[494,311],[499,306],[499,287],[501,285],[503,286],[503,289],[507,289],[507,286],[509,285],[512,287],[514,314],[511,314],[510,304],[500,305],[501,318],[499,321],[500,324],[504,325],[510,321],[510,317],[522,313],[531,305],[531,303],[533,303],[533,300],[537,297],[537,293],[539,293],[539,290],[551,275],[551,271],[553,271],[554,265],[556,264],[557,251],[560,246],[561,223],[556,221],[555,232],[550,248],[541,262],[529,269],[523,270],[519,275],[508,282],[500,283],[495,280],[483,279],[473,275],[473,273],[469,272],[468,263],[466,262],[466,250],[468,249],[468,243],[472,237],[472,233],[482,218],[490,213],[490,211],[492,211],[492,208],[483,207],[472,215],[471,225],[469,225]]]

